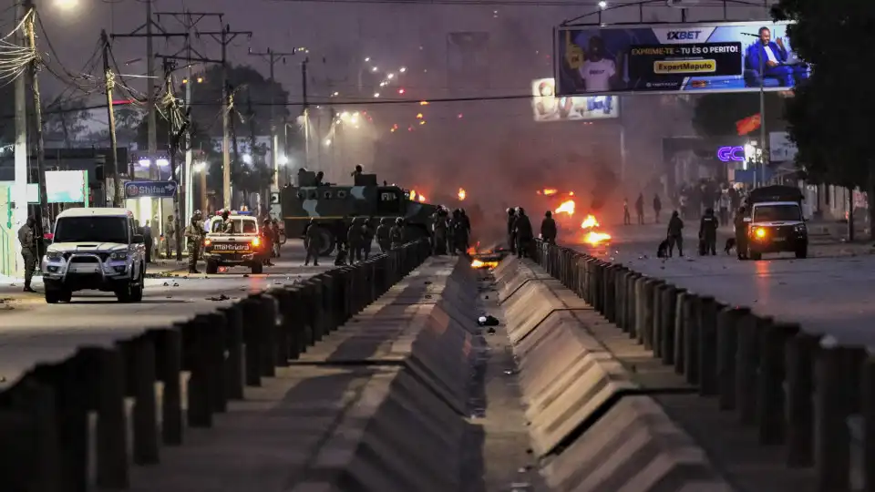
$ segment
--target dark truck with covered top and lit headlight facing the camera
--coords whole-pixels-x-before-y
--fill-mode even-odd
[[[747,257],[757,261],[763,253],[790,251],[808,256],[808,229],[802,215],[804,197],[798,188],[766,186],[747,196]]]

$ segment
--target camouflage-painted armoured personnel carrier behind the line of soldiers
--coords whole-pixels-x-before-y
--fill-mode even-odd
[[[438,210],[431,205],[410,200],[410,191],[396,185],[379,185],[375,174],[355,174],[353,185],[323,183],[314,171],[298,173],[295,186],[280,192],[285,233],[290,238],[303,238],[310,219],[320,224],[322,234],[320,254],[335,250],[336,238],[345,235],[355,217],[365,217],[376,229],[380,220],[403,217],[408,237],[428,237],[431,216]]]

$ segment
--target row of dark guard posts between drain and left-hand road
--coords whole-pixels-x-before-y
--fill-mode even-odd
[[[0,490],[129,487],[131,463],[159,463],[161,446],[182,445],[186,426],[211,427],[244,386],[261,385],[428,256],[427,242],[410,243],[38,364],[0,393]]]

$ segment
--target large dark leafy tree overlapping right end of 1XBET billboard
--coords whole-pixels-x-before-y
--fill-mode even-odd
[[[814,67],[811,77],[787,100],[789,136],[798,147],[797,162],[824,182],[860,186],[869,195],[875,223],[875,173],[870,150],[870,115],[875,94],[864,83],[875,53],[871,4],[864,0],[781,0],[776,20],[796,23],[787,29],[799,57]],[[870,229],[872,239],[875,231]]]

